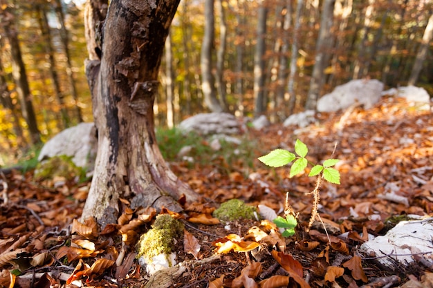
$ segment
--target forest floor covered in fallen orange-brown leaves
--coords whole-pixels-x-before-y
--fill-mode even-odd
[[[89,182],[55,188],[30,172],[13,171],[1,195],[0,287],[433,287],[431,266],[414,261],[384,267],[359,250],[366,240],[362,232],[384,235],[401,215],[433,215],[432,112],[389,98],[368,111],[319,118],[297,135],[282,125],[246,131],[257,148],[254,159],[170,163],[205,200],[177,215],[187,231],[174,247],[182,265],[158,277],[140,269],[131,248],[155,213],[133,211],[122,200],[118,224],[98,231],[91,220],[77,222]],[[306,232],[315,178],[289,178],[290,167],[270,169],[257,160],[275,148],[293,151],[297,138],[315,163],[331,157],[338,143],[332,157],[341,160],[341,184],[323,182],[320,189],[319,213],[331,244],[320,222]],[[389,185],[398,187],[399,197],[384,197]],[[294,236],[282,238],[272,224],[256,220],[211,224],[212,209],[232,198],[281,213],[286,191],[299,213]],[[143,220],[146,213],[149,219]],[[220,254],[218,243],[230,246]],[[259,251],[249,251],[255,243]]]

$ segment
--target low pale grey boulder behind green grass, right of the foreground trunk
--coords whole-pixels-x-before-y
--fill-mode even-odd
[[[194,131],[199,135],[241,133],[239,122],[229,113],[200,113],[183,120],[178,128],[187,133]]]

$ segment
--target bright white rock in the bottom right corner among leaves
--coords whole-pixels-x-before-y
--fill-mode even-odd
[[[379,257],[379,262],[391,268],[395,265],[394,260],[403,265],[413,262],[413,254],[418,254],[433,265],[432,231],[433,218],[402,221],[385,236],[378,236],[362,244],[360,250],[367,255]]]

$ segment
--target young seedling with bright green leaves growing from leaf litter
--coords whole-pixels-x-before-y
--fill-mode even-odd
[[[310,192],[313,194],[313,210],[311,211],[311,218],[308,222],[308,231],[311,228],[311,225],[313,225],[316,216],[318,216],[320,219],[320,215],[317,213],[317,207],[320,200],[319,188],[322,180],[324,179],[333,184],[340,184],[340,172],[338,172],[337,169],[332,168],[340,160],[331,158],[324,160],[322,165],[313,164],[306,159],[307,154],[308,148],[306,144],[298,139],[295,142],[295,153],[291,153],[290,151],[284,149],[275,149],[270,151],[270,153],[267,155],[259,157],[259,160],[271,167],[281,167],[294,161],[291,166],[289,177],[293,177],[304,172],[308,164],[313,166],[313,168],[310,170],[310,173],[308,173],[308,176],[318,177],[314,190]],[[286,209],[284,209],[284,216],[285,218],[282,218],[281,216],[275,218],[274,222],[277,224],[277,227],[285,229],[283,236],[292,236],[295,233],[297,221],[293,209],[291,209],[290,205],[288,204],[288,196],[286,198]]]

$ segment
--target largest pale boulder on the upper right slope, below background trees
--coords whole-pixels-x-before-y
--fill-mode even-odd
[[[365,109],[371,108],[381,97],[383,83],[376,80],[357,79],[335,87],[317,101],[317,111],[334,112],[348,108],[356,102],[363,104]]]

